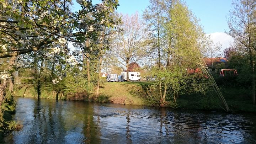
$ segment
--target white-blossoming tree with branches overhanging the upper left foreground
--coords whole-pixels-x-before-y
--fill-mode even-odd
[[[81,9],[71,12],[70,0],[1,0],[0,58],[13,58],[22,54],[37,57],[39,54],[65,60],[66,69],[77,65],[78,61],[67,42],[82,46],[88,39],[99,41],[99,31],[105,27],[113,28],[118,23],[109,16],[117,9],[117,1],[106,0],[94,5],[91,0],[78,0],[78,3]],[[89,47],[83,48],[90,50]],[[9,78],[6,71],[1,74],[0,105]]]

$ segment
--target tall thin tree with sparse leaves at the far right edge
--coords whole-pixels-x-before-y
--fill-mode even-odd
[[[239,0],[233,1],[233,9],[230,10],[227,20],[229,32],[234,38],[236,48],[245,52],[250,61],[252,103],[255,104],[255,49],[256,49],[256,1],[255,0]]]

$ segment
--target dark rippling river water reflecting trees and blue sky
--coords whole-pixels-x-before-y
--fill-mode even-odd
[[[256,116],[17,97],[6,143],[256,143]]]

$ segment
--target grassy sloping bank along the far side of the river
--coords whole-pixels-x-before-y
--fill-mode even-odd
[[[104,82],[100,87],[100,96],[94,98],[95,94],[57,94],[56,92],[42,90],[41,98],[59,100],[83,100],[110,102],[124,105],[142,105],[142,106],[159,106],[159,101],[150,95],[150,85],[152,81],[140,82]],[[236,88],[222,89],[225,100],[230,110],[234,112],[256,112],[256,105],[251,103],[251,98],[247,90]],[[15,96],[36,97],[33,85],[20,85],[16,89]],[[166,97],[166,107],[176,108],[179,110],[204,110],[204,111],[224,111],[220,106],[221,102],[215,95],[215,92],[209,92],[206,95],[180,95],[177,103],[172,103],[171,97]]]

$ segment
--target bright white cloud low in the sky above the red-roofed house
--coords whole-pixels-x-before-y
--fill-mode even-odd
[[[229,47],[231,43],[233,43],[233,38],[224,32],[214,32],[210,34],[206,34],[207,36],[210,35],[210,38],[213,40],[214,43],[220,42],[222,44],[222,52],[225,48]]]

